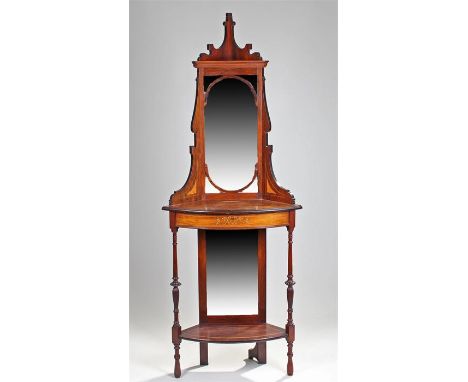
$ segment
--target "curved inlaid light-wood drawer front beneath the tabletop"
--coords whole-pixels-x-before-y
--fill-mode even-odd
[[[255,229],[289,224],[288,212],[245,215],[201,215],[176,213],[176,226],[201,229]]]

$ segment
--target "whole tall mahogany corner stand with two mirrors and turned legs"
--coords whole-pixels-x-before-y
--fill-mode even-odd
[[[163,210],[169,211],[169,225],[172,230],[173,275],[170,285],[174,302],[172,342],[175,349],[175,377],[181,375],[179,350],[182,340],[200,343],[200,364],[206,365],[210,342],[255,342],[248,356],[250,359],[256,358],[259,363],[265,363],[266,341],[285,338],[288,356],[287,374],[293,374],[292,243],[295,213],[302,207],[295,204],[294,197],[288,190],[278,185],[272,169],[273,149],[271,145],[268,145],[268,132],[271,127],[264,87],[264,69],[268,61],[263,60],[259,53],[251,53],[251,44],[245,45],[244,48],[236,44],[234,25],[232,15],[227,13],[222,45],[216,49],[209,44],[209,53],[202,53],[198,60],[193,62],[194,67],[197,68],[197,91],[192,118],[195,144],[190,147],[190,173],[184,186],[170,197],[169,205],[163,207]],[[215,91],[218,92],[217,95]],[[242,92],[247,92],[248,95],[241,96]],[[242,119],[244,109],[236,109],[241,99],[242,102],[244,99],[250,102],[250,106],[246,103],[245,110],[246,113],[250,113],[249,115],[253,115],[253,128],[248,131],[244,128],[244,125],[249,125],[247,119]],[[230,105],[236,109],[234,113],[231,113]],[[209,110],[210,107],[215,108],[214,111]],[[236,118],[241,119],[233,125],[231,122]],[[243,135],[244,130],[247,131],[247,135],[251,135],[248,140],[242,141],[243,138],[239,137]],[[217,137],[220,131],[224,132]],[[236,141],[238,138],[240,141]],[[223,146],[223,149],[216,151],[218,144]],[[252,174],[250,172],[247,177],[244,177],[246,182],[238,184],[239,187],[227,187],[226,185],[236,174],[235,167],[243,165],[244,158],[252,155],[252,150],[249,154],[244,151],[244,146],[253,147],[254,159],[251,159],[253,163],[250,169],[253,170],[253,177],[248,181]],[[229,156],[231,160],[225,162],[225,158]],[[218,162],[223,162],[226,166],[225,171],[223,171],[223,165],[217,168]],[[211,174],[208,171],[208,164]],[[218,181],[221,178],[224,178],[224,184]],[[287,285],[287,321],[284,328],[266,321],[266,229],[271,227],[286,227],[288,232],[288,270],[285,282]],[[179,321],[179,287],[181,285],[177,262],[179,228],[198,230],[199,323],[183,330]],[[225,233],[232,231],[233,239],[230,239],[229,234],[216,239],[216,232],[219,235],[221,231]],[[214,246],[212,243],[216,240],[218,240],[217,245],[227,245],[225,247],[227,249],[235,247],[239,244],[239,238],[240,241],[243,240],[243,233],[247,235],[248,232],[250,232],[250,237],[252,237],[252,232],[255,235],[255,267],[258,279],[256,280],[257,291],[252,292],[257,295],[258,310],[252,314],[211,314],[208,301],[212,292],[207,292],[207,261],[208,263],[212,261],[210,259],[212,255],[207,257],[207,247]],[[239,261],[242,257],[242,247],[240,248],[240,252],[235,255],[239,256]],[[236,260],[235,257],[234,260]],[[211,277],[210,274],[208,274],[209,277]],[[231,304],[233,305],[236,304]]]

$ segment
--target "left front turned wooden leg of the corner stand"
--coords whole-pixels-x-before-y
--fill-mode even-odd
[[[180,377],[180,324],[179,324],[179,282],[177,270],[177,227],[172,228],[172,300],[174,302],[174,324],[172,325],[172,343],[174,344],[174,377]]]

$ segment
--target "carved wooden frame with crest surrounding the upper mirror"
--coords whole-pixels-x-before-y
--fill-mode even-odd
[[[294,204],[294,196],[289,190],[281,187],[276,181],[271,155],[273,146],[268,144],[268,132],[271,130],[270,117],[265,96],[264,69],[268,61],[262,59],[258,52],[251,53],[251,44],[240,48],[234,39],[234,22],[231,14],[226,15],[224,23],[224,40],[219,48],[208,45],[209,54],[202,53],[193,66],[197,69],[197,87],[195,108],[192,117],[191,131],[194,134],[194,145],[190,146],[190,172],[185,184],[175,191],[169,204],[200,200],[242,200],[265,199]],[[257,105],[257,192],[243,190],[219,190],[219,193],[205,192],[207,170],[205,161],[205,76],[256,76]],[[208,180],[209,181],[209,180]]]

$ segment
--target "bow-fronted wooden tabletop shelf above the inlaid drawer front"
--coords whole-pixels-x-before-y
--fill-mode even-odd
[[[164,206],[166,211],[186,212],[192,214],[259,214],[298,210],[299,204],[287,204],[266,199],[244,200],[199,200]]]

